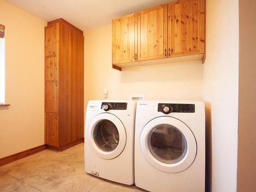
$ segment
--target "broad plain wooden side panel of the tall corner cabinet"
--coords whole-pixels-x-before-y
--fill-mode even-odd
[[[64,145],[83,137],[83,36],[61,23],[60,47],[59,129]]]

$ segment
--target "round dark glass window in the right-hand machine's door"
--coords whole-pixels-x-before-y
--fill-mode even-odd
[[[151,130],[147,140],[151,154],[160,162],[174,164],[187,152],[184,135],[173,125],[161,124]]]

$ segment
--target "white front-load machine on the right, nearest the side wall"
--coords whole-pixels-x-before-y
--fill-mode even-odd
[[[135,184],[158,192],[205,190],[203,102],[137,103]]]

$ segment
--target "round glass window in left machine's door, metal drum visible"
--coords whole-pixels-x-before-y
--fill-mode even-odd
[[[112,152],[119,143],[119,133],[116,125],[110,120],[101,120],[93,133],[96,145],[104,152]]]

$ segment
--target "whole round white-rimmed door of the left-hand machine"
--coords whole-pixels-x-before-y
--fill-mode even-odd
[[[102,113],[93,118],[88,136],[95,153],[103,159],[114,159],[119,156],[126,143],[123,123],[110,113]]]

